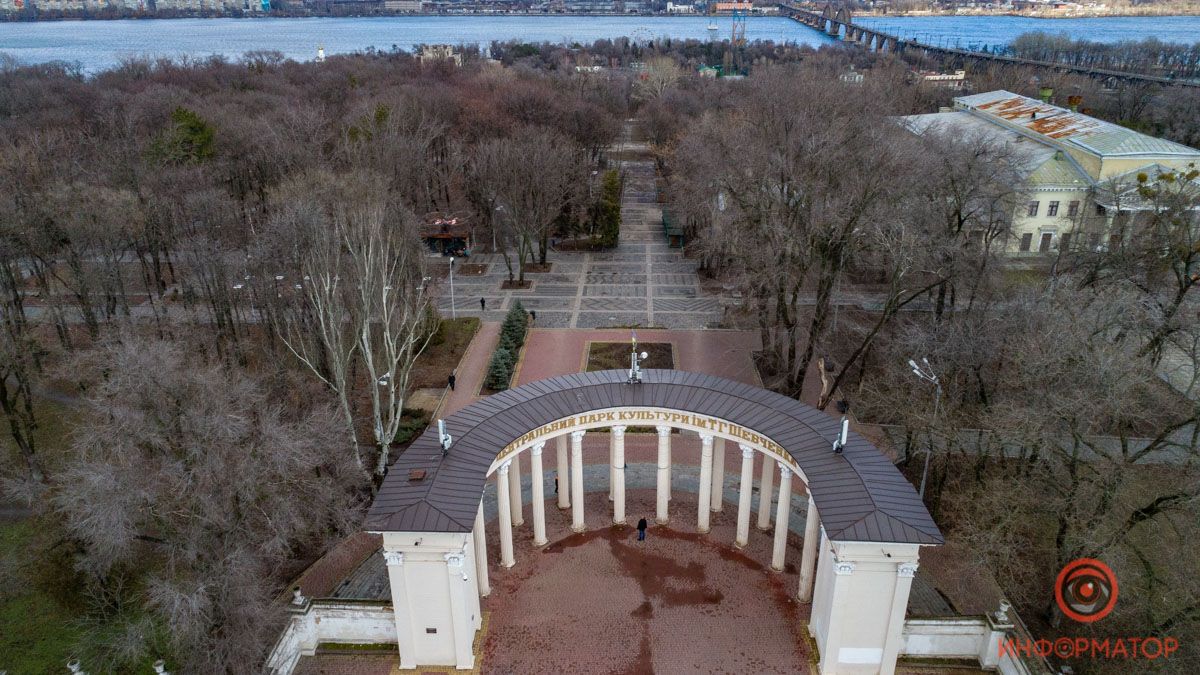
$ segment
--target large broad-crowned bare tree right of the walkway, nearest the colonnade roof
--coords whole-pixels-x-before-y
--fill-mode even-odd
[[[871,241],[911,240],[872,233],[916,195],[912,139],[864,91],[808,73],[764,73],[744,95],[684,139],[673,203],[702,223],[703,253],[740,275],[770,368],[794,394],[851,259]]]

